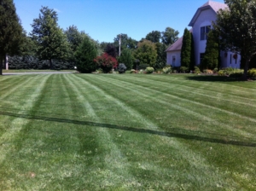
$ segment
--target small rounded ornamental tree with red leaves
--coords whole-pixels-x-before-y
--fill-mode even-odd
[[[94,59],[96,65],[102,68],[104,73],[110,72],[113,68],[118,66],[118,61],[107,53],[103,53]]]

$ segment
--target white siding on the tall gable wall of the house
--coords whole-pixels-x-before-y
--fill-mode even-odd
[[[212,20],[216,20],[216,13],[212,9],[202,10],[193,26],[196,65],[200,64],[200,54],[205,53],[207,47],[207,40],[201,40],[201,27],[212,26]]]

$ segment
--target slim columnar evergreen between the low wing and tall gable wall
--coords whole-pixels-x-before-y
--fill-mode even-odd
[[[190,59],[191,59],[191,35],[187,28],[185,28],[183,33],[183,45],[181,49],[181,66],[182,67],[190,67]]]

